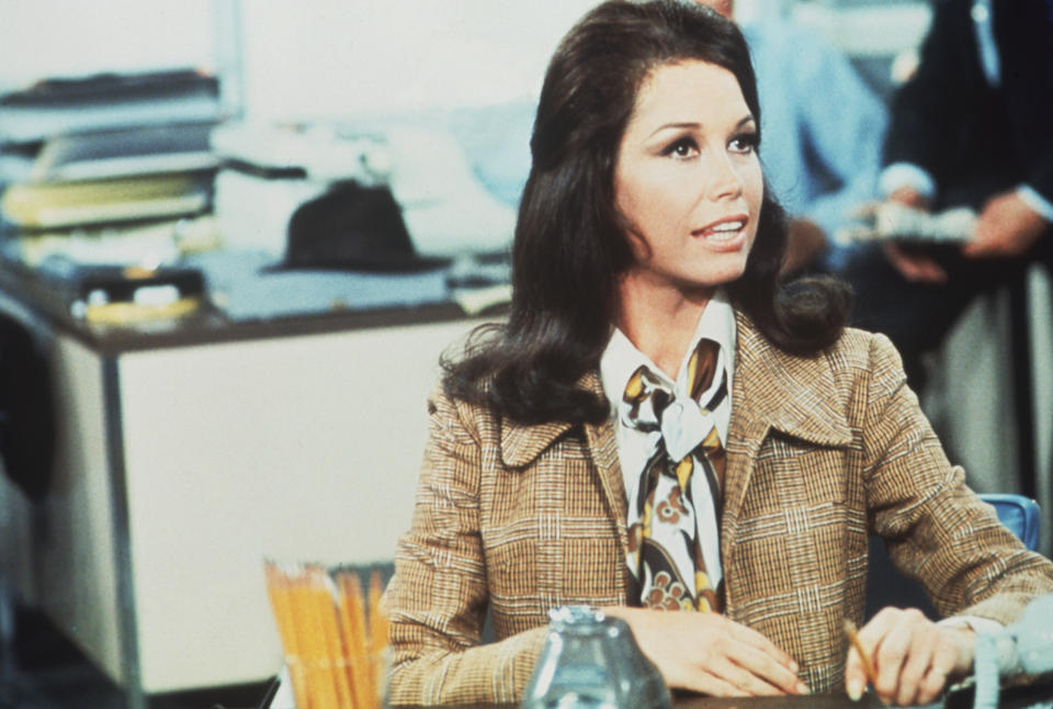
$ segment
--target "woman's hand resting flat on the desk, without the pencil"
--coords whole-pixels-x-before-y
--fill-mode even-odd
[[[797,664],[770,640],[718,614],[604,608],[623,619],[670,687],[714,697],[807,694]]]

